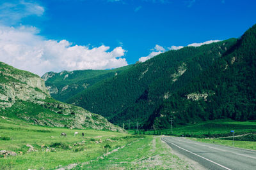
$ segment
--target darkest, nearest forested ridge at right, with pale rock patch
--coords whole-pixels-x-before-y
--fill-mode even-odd
[[[180,87],[148,119],[145,128],[170,127],[175,124],[232,118],[256,119],[256,25],[237,39],[196,78]]]

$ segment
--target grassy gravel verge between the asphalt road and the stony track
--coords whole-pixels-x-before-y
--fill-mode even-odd
[[[159,136],[137,139],[119,152],[96,161],[79,164],[76,169],[193,169],[188,162],[173,155]]]

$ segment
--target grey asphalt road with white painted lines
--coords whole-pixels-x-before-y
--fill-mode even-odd
[[[175,152],[195,160],[206,169],[255,169],[256,151],[201,143],[179,137],[163,137]],[[236,142],[236,141],[235,141]]]

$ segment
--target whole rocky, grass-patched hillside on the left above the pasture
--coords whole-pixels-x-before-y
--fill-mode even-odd
[[[39,76],[0,62],[0,115],[51,127],[124,132],[106,118],[52,99]]]

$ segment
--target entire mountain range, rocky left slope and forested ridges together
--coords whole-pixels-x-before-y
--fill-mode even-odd
[[[135,128],[137,122],[144,129],[166,129],[171,121],[176,126],[255,120],[255,56],[253,25],[238,39],[186,46],[117,69],[49,72],[40,78],[1,62],[1,115],[112,131],[123,131],[116,126],[123,124]]]

